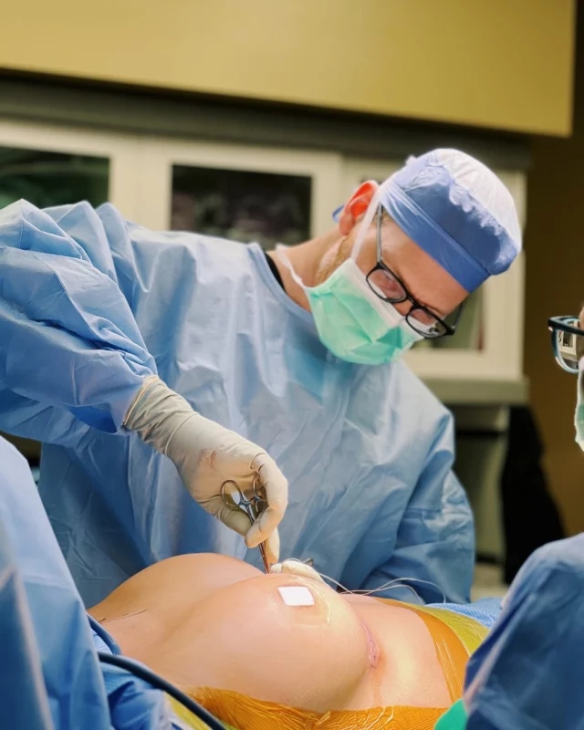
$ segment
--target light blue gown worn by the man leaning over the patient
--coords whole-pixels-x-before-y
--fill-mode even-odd
[[[410,578],[422,600],[468,599],[474,527],[451,414],[403,362],[329,353],[259,246],[152,232],[88,203],[15,203],[0,242],[0,428],[47,444],[40,492],[88,605],[172,555],[261,565],[120,428],[149,373],[276,459],[283,557],[349,589]]]

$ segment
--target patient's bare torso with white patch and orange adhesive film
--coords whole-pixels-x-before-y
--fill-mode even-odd
[[[89,613],[123,653],[238,730],[432,728],[486,633],[447,610],[207,554],[146,568]]]

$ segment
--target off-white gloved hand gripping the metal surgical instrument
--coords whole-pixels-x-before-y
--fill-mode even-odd
[[[244,535],[247,547],[266,541],[266,557],[276,563],[280,552],[276,527],[287,508],[288,483],[263,449],[194,412],[181,395],[156,377],[144,381],[124,426],[168,456],[193,499],[227,527]],[[242,509],[225,504],[221,487],[231,479],[249,497],[256,474],[258,486],[266,491],[267,506],[250,526]]]

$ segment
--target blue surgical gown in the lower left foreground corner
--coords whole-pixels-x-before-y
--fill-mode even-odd
[[[28,464],[0,437],[0,727],[173,730],[161,690],[102,665],[89,619]],[[104,643],[101,637],[109,639]]]

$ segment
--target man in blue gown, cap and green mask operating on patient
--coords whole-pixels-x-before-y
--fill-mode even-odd
[[[0,243],[0,428],[45,443],[40,492],[87,605],[172,555],[261,565],[251,548],[286,507],[268,458],[290,484],[286,558],[349,589],[412,579],[422,600],[468,598],[452,417],[401,356],[452,335],[464,298],[520,250],[511,195],[485,165],[422,155],[363,184],[327,234],[268,255],[87,203],[16,203]],[[193,410],[192,433],[176,431]],[[246,545],[181,480],[221,516],[237,438],[261,449],[245,445],[260,459],[241,459],[247,478],[273,482],[273,516]]]

